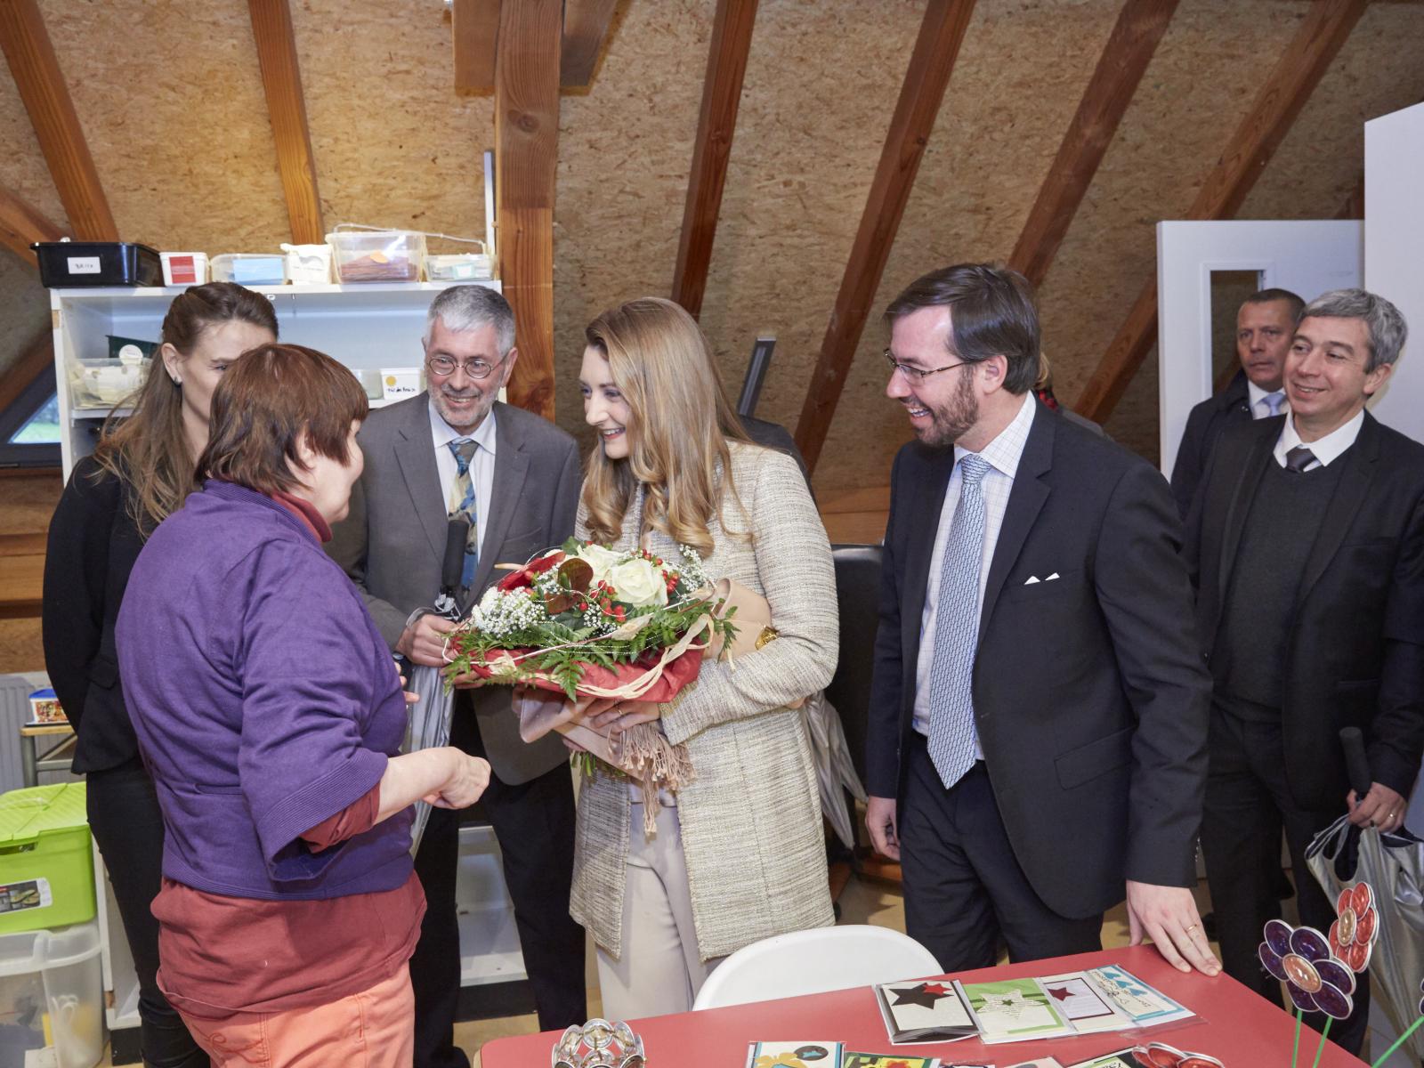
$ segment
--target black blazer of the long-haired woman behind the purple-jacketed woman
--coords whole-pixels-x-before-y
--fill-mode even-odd
[[[125,507],[127,483],[100,471],[90,457],[74,464],[44,557],[44,666],[78,733],[75,773],[138,760],[114,621],[144,538]]]

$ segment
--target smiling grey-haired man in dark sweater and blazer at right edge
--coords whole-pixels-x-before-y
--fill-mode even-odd
[[[1227,973],[1276,1001],[1256,947],[1282,829],[1300,918],[1329,930],[1306,846],[1347,810],[1398,827],[1424,749],[1424,446],[1364,410],[1404,336],[1394,305],[1361,289],[1307,305],[1286,359],[1290,414],[1222,434],[1188,520],[1215,679],[1206,876]],[[1364,733],[1364,797],[1344,726]],[[1346,1048],[1360,1048],[1367,1000],[1361,977],[1356,1014],[1331,1031]]]

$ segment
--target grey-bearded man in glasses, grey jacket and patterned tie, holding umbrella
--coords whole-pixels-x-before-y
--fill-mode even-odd
[[[440,591],[447,517],[471,520],[460,608],[498,578],[574,533],[580,463],[574,439],[538,416],[496,403],[518,359],[514,313],[493,289],[453,286],[427,318],[429,390],[370,413],[359,441],[366,468],[332,555],[362,590],[380,632],[416,664],[443,664],[450,622],[430,612]],[[507,686],[457,691],[453,745],[484,756],[494,776],[481,806],[504,857],[524,967],[541,1028],[587,1018],[584,931],[568,914],[574,790],[557,735],[525,745]],[[460,994],[456,918],[459,815],[434,809],[416,854],[426,918],[410,961],[416,1068],[468,1065],[454,1045]]]

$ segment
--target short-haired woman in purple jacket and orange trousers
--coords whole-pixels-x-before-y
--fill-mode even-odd
[[[158,983],[218,1065],[410,1064],[410,806],[464,807],[488,782],[453,748],[397,756],[394,662],[322,550],[365,416],[329,356],[241,356],[212,397],[202,490],[148,538],[118,617],[164,813]]]

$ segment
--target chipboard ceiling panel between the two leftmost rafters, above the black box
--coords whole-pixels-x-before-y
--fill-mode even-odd
[[[125,241],[216,253],[289,239],[242,0],[41,11]]]

